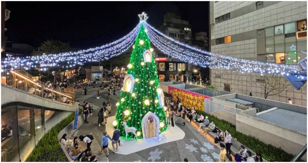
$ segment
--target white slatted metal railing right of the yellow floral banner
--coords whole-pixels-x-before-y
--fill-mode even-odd
[[[215,101],[211,101],[208,99],[204,99],[204,112],[205,113],[213,113],[213,112],[218,112],[218,111],[225,111],[231,114],[236,114],[238,112],[241,112],[239,108],[235,108],[232,106],[227,106],[222,103],[218,103]]]

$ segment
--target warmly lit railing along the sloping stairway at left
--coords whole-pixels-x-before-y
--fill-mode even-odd
[[[40,96],[52,101],[66,104],[74,104],[75,102],[73,92],[63,93],[59,89],[53,89],[46,83],[37,80],[37,78],[22,69],[2,72],[1,84],[20,89],[28,94]]]

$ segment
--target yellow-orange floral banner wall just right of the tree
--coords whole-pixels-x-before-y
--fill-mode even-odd
[[[175,100],[179,97],[182,105],[185,107],[195,107],[196,110],[204,111],[204,99],[211,100],[211,97],[189,92],[175,87],[168,86],[168,94],[170,94]]]

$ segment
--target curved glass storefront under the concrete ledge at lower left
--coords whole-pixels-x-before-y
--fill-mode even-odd
[[[1,108],[1,161],[26,161],[40,139],[71,112],[24,103]],[[45,126],[49,130],[45,130]]]

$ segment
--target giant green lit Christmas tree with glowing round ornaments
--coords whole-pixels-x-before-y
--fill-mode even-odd
[[[157,67],[151,54],[152,48],[145,24],[140,26],[137,40],[133,45],[128,64],[124,87],[120,95],[115,120],[121,135],[125,136],[123,122],[128,127],[137,129],[138,138],[142,138],[142,118],[148,112],[156,114],[160,119],[160,131],[166,130],[165,110],[163,106],[163,92],[159,87]],[[128,138],[134,137],[132,133]]]

